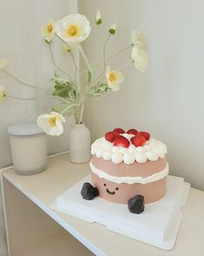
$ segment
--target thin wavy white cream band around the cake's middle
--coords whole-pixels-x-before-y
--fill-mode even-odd
[[[140,183],[140,184],[147,184],[153,181],[158,181],[163,179],[167,174],[169,174],[169,164],[167,163],[166,167],[156,174],[151,174],[150,176],[147,176],[145,178],[141,176],[137,177],[118,177],[118,176],[112,176],[110,174],[106,174],[104,171],[99,170],[97,167],[94,167],[92,164],[92,161],[90,161],[90,167],[92,169],[92,173],[97,174],[99,178],[104,178],[107,181],[112,181],[115,183],[128,183],[128,184],[134,184],[134,183]]]

